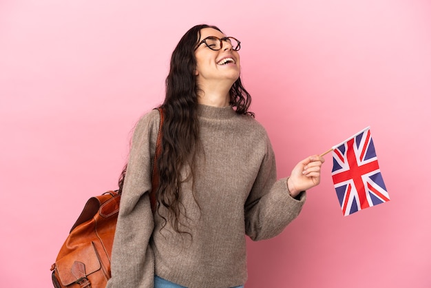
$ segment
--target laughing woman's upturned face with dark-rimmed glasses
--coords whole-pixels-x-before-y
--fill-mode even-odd
[[[222,32],[213,28],[200,30],[200,41],[207,37],[226,37]],[[232,49],[227,41],[222,41],[220,50],[211,50],[205,43],[198,46],[196,56],[196,79],[199,85],[231,83],[229,88],[240,77],[240,54]]]

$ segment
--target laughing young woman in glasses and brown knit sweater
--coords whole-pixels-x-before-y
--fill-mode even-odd
[[[324,158],[309,156],[276,180],[266,131],[248,111],[240,41],[196,25],[171,56],[162,104],[157,209],[149,201],[160,115],[134,132],[108,288],[243,287],[245,234],[280,234],[319,184]]]

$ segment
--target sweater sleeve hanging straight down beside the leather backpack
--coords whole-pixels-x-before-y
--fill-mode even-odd
[[[153,110],[138,121],[134,131],[107,288],[154,286],[154,253],[149,245],[154,218],[149,191],[159,121],[160,115]]]

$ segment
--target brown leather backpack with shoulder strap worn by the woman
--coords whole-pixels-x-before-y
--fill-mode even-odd
[[[156,153],[151,177],[151,209],[156,209],[159,174],[156,161],[161,151],[163,114],[161,108]],[[70,229],[56,262],[52,265],[55,288],[103,288],[111,278],[111,251],[120,208],[121,189],[127,165],[118,181],[117,191],[90,198]]]

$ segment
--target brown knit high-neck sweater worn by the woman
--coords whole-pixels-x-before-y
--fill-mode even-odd
[[[275,157],[262,125],[232,107],[199,105],[198,116],[204,152],[196,162],[196,193],[186,181],[181,198],[187,216],[180,218],[182,228],[191,236],[174,232],[169,223],[160,230],[162,218],[151,213],[158,111],[138,122],[107,288],[153,287],[154,274],[190,288],[244,285],[245,234],[253,240],[276,236],[302,209],[305,193],[296,200],[287,192],[286,178],[276,181]]]

